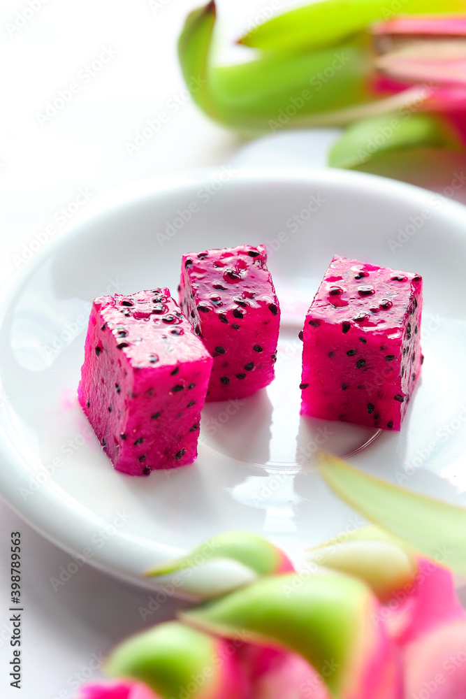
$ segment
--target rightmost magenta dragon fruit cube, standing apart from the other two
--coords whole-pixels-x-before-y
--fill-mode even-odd
[[[400,430],[421,309],[419,275],[334,257],[305,319],[301,414]]]

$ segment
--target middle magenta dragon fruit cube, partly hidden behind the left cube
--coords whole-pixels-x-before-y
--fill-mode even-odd
[[[280,310],[264,245],[182,257],[180,306],[214,358],[207,401],[245,398],[275,371]]]

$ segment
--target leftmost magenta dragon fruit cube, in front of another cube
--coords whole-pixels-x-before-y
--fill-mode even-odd
[[[94,300],[78,399],[117,470],[149,475],[196,459],[211,370],[168,289]]]

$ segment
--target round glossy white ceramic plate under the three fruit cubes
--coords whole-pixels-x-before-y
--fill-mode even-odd
[[[465,229],[466,209],[447,199],[337,170],[203,171],[110,192],[3,289],[1,493],[79,561],[145,586],[151,565],[221,531],[261,533],[297,555],[363,524],[319,477],[318,447],[347,455],[372,440],[352,463],[464,503]],[[282,305],[275,382],[205,407],[194,465],[117,473],[75,398],[90,301],[157,286],[175,294],[182,252],[240,243],[269,247]],[[425,362],[400,433],[300,420],[298,332],[335,253],[423,275]],[[233,568],[221,570],[247,579]],[[175,589],[206,579],[212,563]]]

